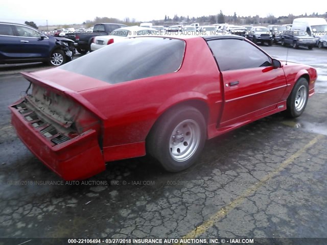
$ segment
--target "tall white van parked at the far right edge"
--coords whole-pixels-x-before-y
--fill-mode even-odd
[[[295,18],[292,30],[302,30],[310,36],[321,37],[327,34],[327,21],[324,18]]]

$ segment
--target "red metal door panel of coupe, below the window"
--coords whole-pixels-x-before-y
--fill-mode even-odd
[[[287,86],[283,68],[258,67],[223,71],[222,76],[225,105],[221,127],[243,121],[244,115],[251,116],[249,114],[256,111],[262,114],[275,109]],[[239,84],[230,86],[234,81]]]

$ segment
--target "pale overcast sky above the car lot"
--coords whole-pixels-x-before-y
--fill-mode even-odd
[[[266,17],[273,14],[275,17],[294,14],[311,14],[325,12],[319,4],[294,4],[292,1],[184,1],[184,0],[107,0],[107,1],[26,1],[1,0],[0,21],[24,23],[26,20],[34,21],[43,26],[48,20],[52,24],[82,23],[95,17],[113,17],[124,20],[129,17],[136,21],[149,21],[164,19],[165,15],[173,18],[178,16],[216,15],[220,10],[225,15],[236,12],[240,16],[254,16],[259,14]],[[3,2],[5,1],[5,3]],[[33,3],[33,4],[32,4]],[[51,6],[53,3],[53,6]]]

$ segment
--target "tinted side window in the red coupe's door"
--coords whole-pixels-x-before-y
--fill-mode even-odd
[[[271,59],[245,40],[218,39],[208,41],[221,71],[271,66]]]

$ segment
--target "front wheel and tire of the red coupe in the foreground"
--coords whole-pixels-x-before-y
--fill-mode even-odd
[[[309,97],[309,84],[307,79],[300,78],[294,85],[291,94],[287,99],[286,115],[298,117],[306,109]]]

